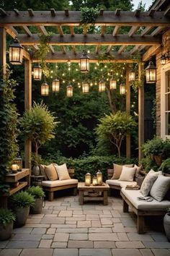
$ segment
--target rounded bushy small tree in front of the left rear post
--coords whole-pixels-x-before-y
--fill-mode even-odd
[[[20,119],[22,135],[30,139],[35,147],[35,161],[38,159],[38,148],[54,137],[58,122],[44,103],[33,103],[32,108]]]

